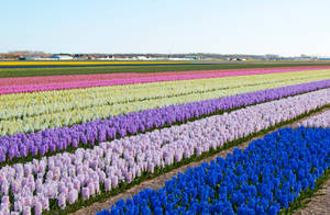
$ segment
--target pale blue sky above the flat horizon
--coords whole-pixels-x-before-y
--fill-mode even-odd
[[[329,0],[0,0],[0,53],[330,56]]]

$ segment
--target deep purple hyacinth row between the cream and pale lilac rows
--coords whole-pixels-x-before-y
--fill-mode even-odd
[[[162,109],[146,110],[142,112],[119,115],[109,120],[98,120],[72,127],[45,129],[31,134],[18,134],[0,137],[0,162],[12,159],[44,156],[58,150],[94,146],[116,137],[124,137],[130,134],[143,133],[153,128],[164,127],[188,120],[196,120],[210,114],[219,114],[223,111],[243,108],[246,105],[273,101],[288,95],[330,87],[330,80],[304,83],[271,90],[263,90],[234,97],[187,103]],[[310,99],[310,97],[316,97]],[[295,98],[309,98],[301,101],[307,104],[301,111],[310,105],[323,105],[330,101],[329,90],[302,94]],[[316,103],[314,103],[314,100]],[[282,100],[279,100],[282,102]],[[283,100],[287,101],[287,100]],[[288,100],[290,101],[290,100]],[[309,103],[310,102],[310,103]],[[300,105],[299,105],[300,106]]]

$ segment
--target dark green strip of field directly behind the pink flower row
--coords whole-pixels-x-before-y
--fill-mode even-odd
[[[330,63],[238,63],[215,65],[162,65],[162,66],[116,66],[116,67],[56,67],[56,68],[0,68],[0,78],[11,77],[37,77],[37,76],[64,76],[88,73],[116,73],[116,72],[162,72],[162,71],[188,71],[212,69],[242,69],[267,67],[297,67],[297,66],[330,66]]]

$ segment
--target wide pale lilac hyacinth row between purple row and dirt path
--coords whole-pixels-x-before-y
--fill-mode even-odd
[[[152,133],[0,169],[3,212],[81,206],[121,183],[218,149],[329,102],[327,90],[273,101]]]

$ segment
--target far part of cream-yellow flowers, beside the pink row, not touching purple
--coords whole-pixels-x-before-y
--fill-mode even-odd
[[[0,120],[54,113],[96,105],[141,101],[154,98],[204,93],[243,86],[330,78],[329,70],[255,75],[144,84],[113,86],[64,91],[7,94],[0,97]],[[311,81],[311,80],[310,80]],[[244,84],[242,84],[244,83]]]

